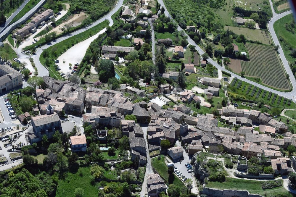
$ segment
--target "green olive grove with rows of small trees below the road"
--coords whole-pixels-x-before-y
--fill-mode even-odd
[[[241,83],[241,85],[239,85]],[[233,80],[228,87],[228,91],[238,95],[242,95],[245,99],[258,101],[272,107],[279,107],[281,109],[295,109],[296,104],[274,93],[261,90],[254,85],[240,80]],[[269,98],[269,99],[268,99]]]

